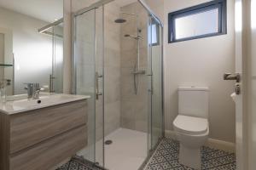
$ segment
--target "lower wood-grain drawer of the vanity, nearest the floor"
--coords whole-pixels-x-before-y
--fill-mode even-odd
[[[48,170],[87,145],[87,127],[81,126],[10,156],[11,170]]]

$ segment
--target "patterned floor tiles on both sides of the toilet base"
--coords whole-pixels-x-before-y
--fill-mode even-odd
[[[194,170],[178,162],[179,143],[173,139],[163,139],[144,170]],[[202,170],[235,170],[236,156],[224,150],[206,146],[201,148]]]

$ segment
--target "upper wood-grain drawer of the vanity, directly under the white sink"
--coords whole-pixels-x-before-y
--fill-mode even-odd
[[[80,100],[10,116],[10,153],[86,124],[86,105]]]

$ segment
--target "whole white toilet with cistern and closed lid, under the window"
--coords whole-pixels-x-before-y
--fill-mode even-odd
[[[178,88],[178,115],[173,121],[180,142],[179,163],[201,169],[201,146],[209,134],[208,88]]]

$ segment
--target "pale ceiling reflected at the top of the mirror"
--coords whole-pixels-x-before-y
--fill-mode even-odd
[[[47,22],[63,17],[63,0],[0,0],[0,7]]]

